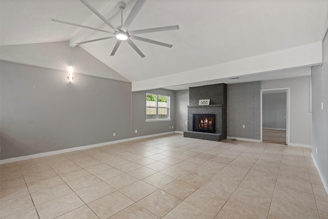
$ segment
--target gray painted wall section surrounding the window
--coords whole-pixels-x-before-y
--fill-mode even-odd
[[[170,96],[171,102],[171,121],[158,121],[146,123],[146,93],[161,94]],[[154,89],[147,91],[132,92],[132,111],[133,137],[158,134],[163,132],[175,131],[175,91],[166,89]],[[173,126],[173,129],[169,129]],[[135,130],[138,130],[135,133]]]

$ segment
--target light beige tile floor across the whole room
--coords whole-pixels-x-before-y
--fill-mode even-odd
[[[164,135],[1,165],[1,218],[328,218],[311,149]]]

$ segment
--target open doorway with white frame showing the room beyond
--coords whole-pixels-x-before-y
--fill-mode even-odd
[[[261,90],[261,142],[289,144],[290,88]]]

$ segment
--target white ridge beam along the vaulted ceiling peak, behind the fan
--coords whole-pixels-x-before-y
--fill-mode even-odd
[[[129,2],[131,2],[131,0],[125,0],[122,1],[125,2],[126,4],[128,4]],[[119,11],[119,7],[117,4],[117,1],[109,1],[99,12],[100,14],[102,14],[104,17],[106,17],[107,19],[110,18],[111,16],[113,16],[117,11]],[[100,25],[103,25],[104,22],[101,21],[101,19],[94,15],[92,17],[92,19],[87,23],[84,24],[85,26],[89,26],[89,27],[94,27],[94,28],[98,28]],[[86,28],[81,28],[69,41],[69,46],[70,47],[75,47],[77,44],[81,41],[83,41],[83,39],[85,39],[88,35],[90,35],[94,30],[90,30],[90,29],[86,29]],[[110,30],[112,31],[112,30]]]

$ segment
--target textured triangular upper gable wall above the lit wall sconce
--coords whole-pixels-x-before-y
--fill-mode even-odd
[[[86,50],[68,45],[69,42],[64,41],[0,46],[0,56],[9,62],[62,71],[68,71],[68,67],[73,66],[76,73],[129,82]]]

